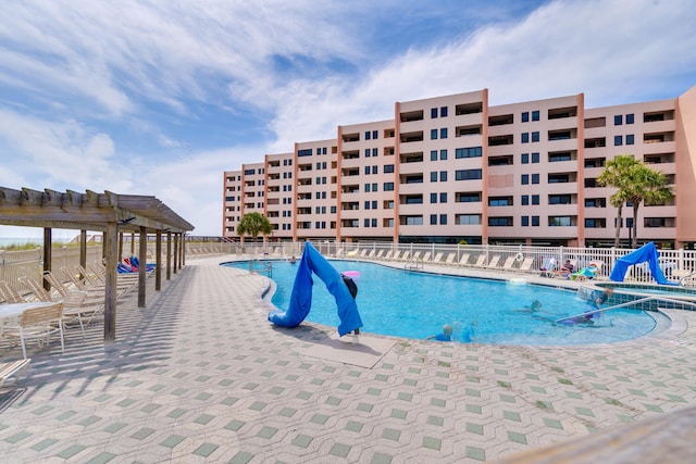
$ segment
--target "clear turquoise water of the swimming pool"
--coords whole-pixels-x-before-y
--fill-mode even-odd
[[[248,269],[248,263],[228,265]],[[575,291],[505,281],[442,276],[395,269],[374,263],[332,261],[339,272],[358,271],[358,310],[362,331],[424,339],[455,326],[452,340],[498,344],[584,344],[627,340],[648,334],[655,319],[643,311],[620,309],[601,314],[594,325],[554,324],[587,311]],[[297,265],[273,262],[277,290],[273,304],[287,310]],[[542,302],[539,311],[524,306]],[[336,302],[314,278],[307,321],[336,327]]]

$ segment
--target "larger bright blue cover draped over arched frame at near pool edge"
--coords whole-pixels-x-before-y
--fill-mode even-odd
[[[343,277],[309,241],[304,243],[302,259],[295,276],[289,308],[286,312],[269,313],[269,321],[283,327],[297,327],[304,321],[312,306],[312,273],[324,281],[328,292],[336,299],[340,318],[338,335],[344,336],[362,327],[358,305]]]

